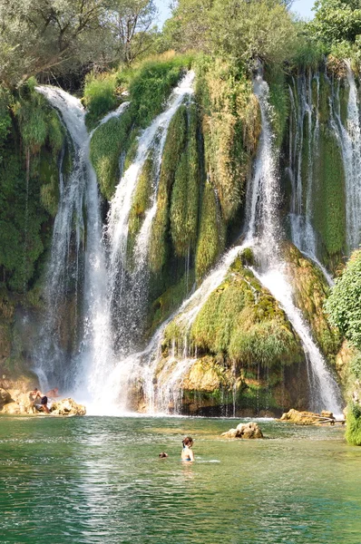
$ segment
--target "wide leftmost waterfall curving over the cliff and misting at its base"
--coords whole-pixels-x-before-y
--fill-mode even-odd
[[[54,221],[45,288],[46,313],[36,346],[35,372],[42,388],[93,397],[112,364],[107,274],[95,172],[89,159],[92,134],[79,100],[53,87],[38,87],[60,112],[73,143],[73,171],[60,174],[59,209]],[[120,115],[127,103],[102,122]],[[78,314],[77,308],[80,308]],[[72,308],[73,312],[72,312]],[[73,343],[63,346],[61,321],[73,326]]]

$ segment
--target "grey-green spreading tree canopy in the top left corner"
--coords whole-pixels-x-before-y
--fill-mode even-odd
[[[91,58],[103,14],[103,0],[0,0],[0,83]]]

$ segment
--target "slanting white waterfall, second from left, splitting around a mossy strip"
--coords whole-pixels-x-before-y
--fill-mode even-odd
[[[139,344],[148,297],[148,252],[151,225],[157,211],[161,157],[168,127],[180,104],[193,93],[194,73],[188,72],[171,93],[168,106],[143,131],[136,158],[122,176],[111,202],[106,229],[110,246],[110,293],[118,351],[129,355]],[[145,161],[152,154],[153,185],[151,206],[146,211],[141,230],[135,240],[132,266],[127,263],[129,218],[132,198]]]

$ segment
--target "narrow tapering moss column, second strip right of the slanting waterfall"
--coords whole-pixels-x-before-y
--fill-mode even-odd
[[[190,106],[187,147],[180,156],[171,191],[171,238],[176,255],[185,257],[197,237],[200,172],[197,109]]]

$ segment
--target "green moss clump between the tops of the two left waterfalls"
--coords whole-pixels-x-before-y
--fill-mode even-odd
[[[129,149],[131,127],[132,113],[126,110],[119,118],[103,123],[93,133],[90,156],[105,199],[112,199],[119,181],[119,157]]]

